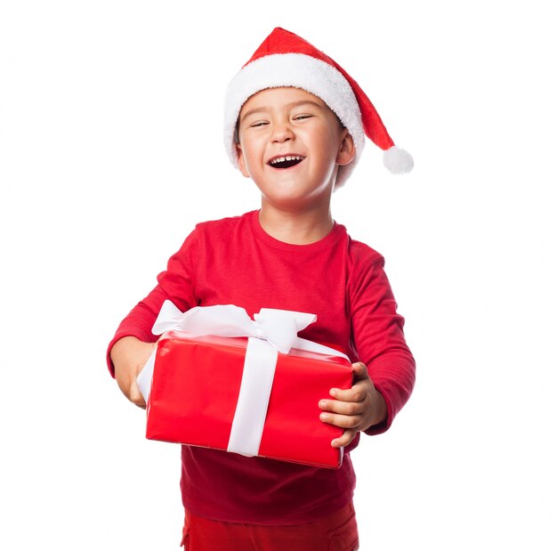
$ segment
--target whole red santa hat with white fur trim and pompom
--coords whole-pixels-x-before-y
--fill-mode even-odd
[[[356,157],[340,166],[336,178],[342,185],[359,161],[365,135],[383,150],[383,164],[393,174],[410,172],[414,160],[394,145],[381,117],[358,83],[325,53],[284,28],[275,28],[246,65],[232,78],[224,102],[224,143],[230,161],[238,167],[236,126],[242,105],[267,88],[294,86],[318,96],[335,111],[348,129]]]

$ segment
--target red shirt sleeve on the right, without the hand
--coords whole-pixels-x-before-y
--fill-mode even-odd
[[[349,280],[352,339],[360,361],[387,404],[387,419],[365,431],[381,434],[408,401],[416,380],[416,362],[408,349],[404,318],[397,313],[392,288],[378,256]]]

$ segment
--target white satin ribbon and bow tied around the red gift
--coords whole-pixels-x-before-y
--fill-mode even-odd
[[[228,451],[252,457],[259,451],[278,352],[287,354],[291,348],[298,348],[348,360],[342,352],[297,336],[298,331],[315,320],[315,314],[270,308],[262,308],[252,320],[243,308],[231,304],[197,306],[188,312],[181,312],[171,301],[166,300],[153,326],[153,334],[182,330],[191,336],[248,337]],[[137,378],[145,401],[149,399],[155,356],[156,352],[153,352]]]

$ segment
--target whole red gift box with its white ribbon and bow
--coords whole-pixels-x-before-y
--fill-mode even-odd
[[[267,312],[285,317],[283,311]],[[230,326],[222,330],[222,324],[215,328],[211,323],[213,327],[207,328],[201,321],[198,333],[232,336],[196,335],[175,329],[181,324],[191,329],[183,319],[161,324],[159,316],[159,329],[174,329],[158,340],[151,361],[147,438],[312,466],[340,466],[342,450],[331,447],[331,441],[343,429],[323,423],[318,404],[331,388],[351,387],[351,362],[340,352],[298,338],[296,332],[308,324],[307,318],[297,326],[290,323],[294,327],[289,330],[284,323],[269,329],[272,323],[265,320],[247,320],[248,328],[242,330]],[[289,332],[289,342],[273,342],[268,335],[273,331],[278,341]]]

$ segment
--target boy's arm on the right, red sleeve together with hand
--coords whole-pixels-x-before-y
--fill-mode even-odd
[[[353,364],[349,390],[331,389],[335,400],[319,401],[321,419],[344,429],[334,447],[346,446],[364,431],[380,434],[408,401],[415,381],[415,362],[406,344],[404,320],[396,312],[383,258],[349,281],[353,344],[361,361]],[[367,366],[367,367],[366,367]]]

